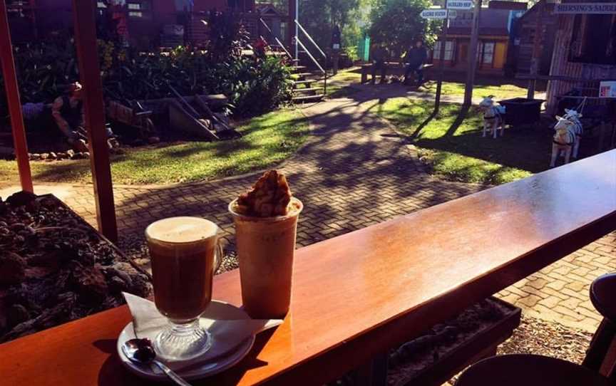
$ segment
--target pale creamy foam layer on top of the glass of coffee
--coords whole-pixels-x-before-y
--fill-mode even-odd
[[[218,227],[198,217],[171,217],[155,221],[145,229],[148,239],[163,243],[190,243],[216,236]]]

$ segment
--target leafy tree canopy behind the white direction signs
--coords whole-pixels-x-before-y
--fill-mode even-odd
[[[394,57],[401,56],[417,39],[433,46],[441,22],[419,16],[431,5],[430,0],[376,0],[370,14],[372,42],[384,45]]]

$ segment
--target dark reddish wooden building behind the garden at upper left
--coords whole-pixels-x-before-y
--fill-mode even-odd
[[[34,41],[37,36],[48,36],[53,31],[73,28],[71,0],[6,1],[14,43],[27,43]],[[207,13],[212,10],[235,12],[253,34],[257,33],[260,17],[257,16],[259,13],[255,0],[92,1],[96,1],[99,22],[106,16],[110,17],[131,45],[143,49],[185,43],[198,46],[205,43],[207,27],[202,19],[207,19]],[[280,23],[281,16],[275,17]]]

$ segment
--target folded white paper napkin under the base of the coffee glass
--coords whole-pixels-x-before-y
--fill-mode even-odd
[[[133,327],[138,338],[154,341],[156,335],[167,325],[165,316],[156,309],[155,304],[131,293],[122,293],[130,313],[133,315]],[[172,370],[188,370],[190,367],[212,362],[233,353],[252,335],[282,324],[282,319],[238,318],[237,311],[225,303],[212,302],[200,318],[200,324],[212,334],[212,348],[192,360],[164,362]],[[162,359],[162,358],[160,358]]]

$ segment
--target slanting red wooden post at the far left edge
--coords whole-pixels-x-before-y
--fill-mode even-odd
[[[11,117],[11,130],[13,132],[21,189],[26,192],[34,192],[28,157],[28,143],[26,141],[26,127],[24,126],[24,115],[21,111],[19,86],[17,85],[17,75],[15,74],[15,62],[13,59],[13,46],[11,45],[11,32],[9,31],[9,19],[6,16],[4,0],[0,0],[0,62],[2,65],[4,88],[6,90],[6,100]]]

